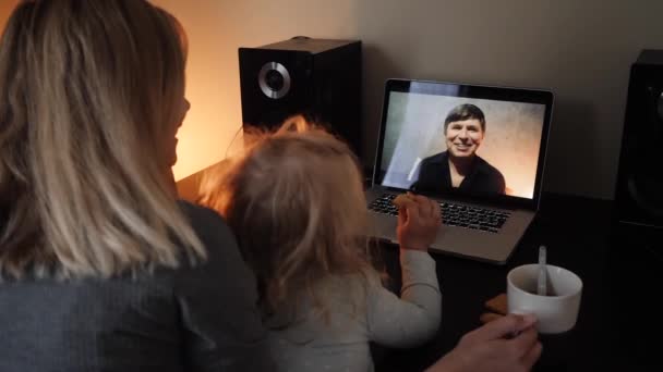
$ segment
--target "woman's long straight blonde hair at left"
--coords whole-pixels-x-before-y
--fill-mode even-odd
[[[184,64],[181,27],[146,1],[17,5],[0,44],[1,276],[205,256],[164,181]]]

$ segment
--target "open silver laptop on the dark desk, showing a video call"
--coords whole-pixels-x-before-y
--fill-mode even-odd
[[[388,79],[366,190],[373,234],[397,244],[391,201],[413,190],[441,206],[431,251],[506,263],[539,210],[552,111],[543,89]]]

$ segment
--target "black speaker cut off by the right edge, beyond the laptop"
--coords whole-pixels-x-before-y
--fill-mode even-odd
[[[620,224],[663,230],[663,50],[631,65],[615,201]]]

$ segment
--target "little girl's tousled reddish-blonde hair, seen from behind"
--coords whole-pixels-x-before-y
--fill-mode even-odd
[[[297,126],[257,136],[208,176],[202,202],[234,231],[267,310],[312,296],[325,312],[315,287],[326,277],[378,275],[365,238],[366,200],[355,157],[328,133],[302,128],[301,121]]]

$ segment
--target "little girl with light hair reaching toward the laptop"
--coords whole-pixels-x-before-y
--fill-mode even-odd
[[[411,347],[435,335],[442,299],[426,248],[437,203],[399,198],[398,298],[371,263],[357,159],[329,134],[257,139],[212,185],[203,202],[224,214],[256,273],[279,371],[373,371],[369,342]]]

